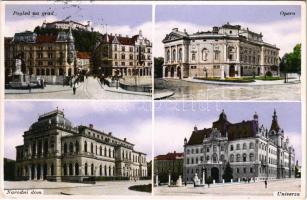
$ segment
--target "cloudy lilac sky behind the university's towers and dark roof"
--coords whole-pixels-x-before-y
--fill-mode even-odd
[[[224,109],[232,123],[251,120],[255,112],[259,124],[270,128],[276,109],[278,123],[294,146],[296,160],[301,163],[301,105],[299,102],[155,102],[154,154],[183,152],[183,141],[188,140],[196,125],[198,129],[211,128]]]

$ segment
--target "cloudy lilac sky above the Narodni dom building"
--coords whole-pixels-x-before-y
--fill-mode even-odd
[[[4,156],[16,159],[15,146],[23,144],[23,133],[36,122],[39,114],[58,107],[74,126],[93,124],[97,130],[112,132],[118,138],[127,138],[134,149],[152,158],[151,102],[7,101],[5,103]]]

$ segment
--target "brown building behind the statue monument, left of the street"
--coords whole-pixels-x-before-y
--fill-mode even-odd
[[[26,31],[16,33],[12,40],[8,38],[6,41],[6,77],[13,75],[16,59],[21,60],[21,70],[27,77],[42,77],[54,82],[59,77],[75,74],[76,51],[71,30],[57,35]]]

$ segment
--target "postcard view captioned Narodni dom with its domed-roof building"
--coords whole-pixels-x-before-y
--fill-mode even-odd
[[[152,103],[6,101],[4,194],[151,195]]]

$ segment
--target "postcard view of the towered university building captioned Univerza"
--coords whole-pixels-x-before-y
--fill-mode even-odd
[[[156,196],[300,196],[300,102],[155,102]]]

